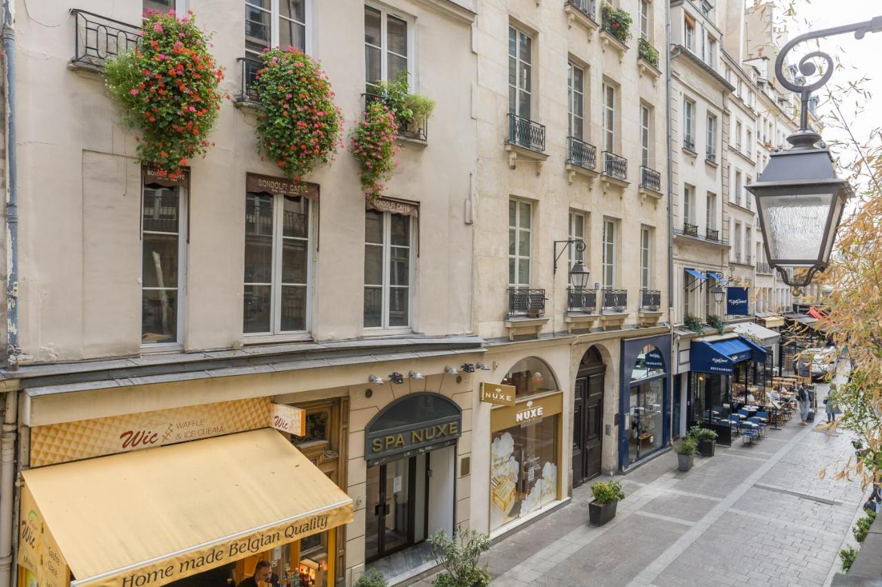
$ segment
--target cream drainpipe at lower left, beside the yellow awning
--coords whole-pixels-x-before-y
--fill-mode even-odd
[[[12,571],[12,514],[15,494],[16,417],[19,392],[6,392],[3,433],[0,434],[0,587],[10,587]]]

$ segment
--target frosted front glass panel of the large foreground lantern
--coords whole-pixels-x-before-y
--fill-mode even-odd
[[[769,239],[770,263],[790,265],[817,263],[825,245],[834,193],[762,195],[757,198]],[[838,198],[836,198],[838,200]],[[804,261],[804,263],[798,263]]]

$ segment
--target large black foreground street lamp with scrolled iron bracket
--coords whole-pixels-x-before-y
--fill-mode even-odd
[[[833,76],[833,59],[821,51],[804,56],[798,68],[806,78],[817,71],[810,61],[815,57],[826,61],[826,70],[815,83],[796,85],[784,77],[785,58],[792,48],[810,39],[843,33],[855,33],[861,39],[878,31],[882,31],[882,17],[801,34],[784,45],[775,60],[775,77],[800,96],[799,130],[787,138],[790,148],[772,153],[757,181],[745,188],[757,201],[768,263],[788,286],[807,286],[816,271],[826,270],[842,211],[854,192],[848,182],[836,176],[830,151],[816,146],[821,137],[809,128],[809,98]],[[787,267],[803,271],[789,274]]]

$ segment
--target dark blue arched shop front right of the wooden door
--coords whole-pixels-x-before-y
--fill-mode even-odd
[[[670,446],[670,335],[622,341],[618,462],[621,471]]]

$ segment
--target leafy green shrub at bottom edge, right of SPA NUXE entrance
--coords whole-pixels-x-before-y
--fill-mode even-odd
[[[478,566],[481,555],[490,550],[490,536],[475,530],[456,528],[452,538],[445,531],[439,530],[432,534],[429,542],[432,546],[432,558],[445,569],[432,585],[471,587],[477,583],[483,587],[490,584],[487,566]]]

